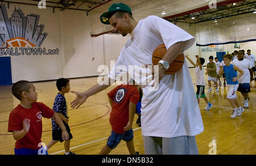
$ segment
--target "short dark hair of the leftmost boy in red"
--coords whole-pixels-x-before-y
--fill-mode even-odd
[[[11,88],[11,92],[17,99],[21,99],[22,92],[28,92],[30,89],[31,82],[27,80],[19,80],[18,82],[13,84]]]

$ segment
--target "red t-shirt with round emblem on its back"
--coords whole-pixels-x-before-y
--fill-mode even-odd
[[[129,122],[129,103],[138,103],[139,91],[134,86],[121,84],[110,91],[108,96],[113,100],[109,119],[112,130],[119,134],[125,133],[123,127]]]

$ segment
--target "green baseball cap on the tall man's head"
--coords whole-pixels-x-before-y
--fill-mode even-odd
[[[110,24],[109,23],[109,18],[116,12],[116,11],[127,11],[131,13],[131,8],[125,3],[114,3],[109,7],[109,10],[107,12],[104,12],[104,14],[101,15],[101,23],[104,24]]]

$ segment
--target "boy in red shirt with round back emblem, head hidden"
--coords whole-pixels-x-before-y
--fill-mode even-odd
[[[102,148],[100,155],[108,155],[123,139],[130,155],[136,155],[133,144],[133,118],[136,104],[139,101],[138,86],[119,85],[108,93],[109,103],[112,107],[110,112],[110,125],[112,133],[107,144]]]

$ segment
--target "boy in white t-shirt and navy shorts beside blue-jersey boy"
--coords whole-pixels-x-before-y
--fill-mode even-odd
[[[243,58],[243,52],[240,50],[237,55],[237,59],[234,59],[232,61],[232,65],[236,65],[241,70],[243,70],[244,74],[238,79],[239,87],[237,91],[240,91],[243,96],[243,108],[248,108],[248,93],[250,92],[250,69],[251,69],[251,62]],[[239,71],[237,71],[237,74],[239,75]]]

